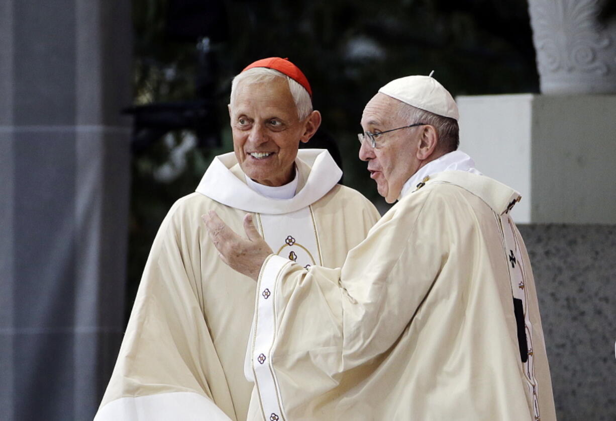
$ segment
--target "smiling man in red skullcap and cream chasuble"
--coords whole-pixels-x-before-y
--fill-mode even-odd
[[[222,263],[200,216],[215,210],[233,229],[254,216],[267,247],[302,268],[340,266],[379,218],[336,184],[342,171],[326,150],[298,152],[321,121],[311,94],[299,68],[277,57],[233,80],[235,152],[214,158],[164,219],[95,420],[246,419],[256,285]]]

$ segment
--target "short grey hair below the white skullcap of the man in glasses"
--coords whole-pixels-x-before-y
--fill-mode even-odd
[[[431,113],[421,108],[408,105],[402,101],[400,101],[398,105],[397,118],[399,118],[400,121],[406,121],[409,125],[413,123],[424,123],[434,126],[439,136],[437,148],[444,152],[452,152],[458,149],[460,145],[460,128],[458,128],[458,121],[456,121],[455,118]]]

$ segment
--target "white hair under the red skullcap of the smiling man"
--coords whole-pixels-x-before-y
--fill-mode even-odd
[[[309,116],[312,112],[312,99],[310,99],[310,95],[308,94],[308,91],[306,91],[306,88],[284,73],[267,67],[253,67],[233,78],[231,83],[231,108],[233,108],[233,103],[235,102],[235,97],[237,96],[236,88],[240,82],[246,84],[262,83],[270,82],[275,78],[285,78],[288,81],[289,91],[291,91],[293,102],[297,108],[299,120],[304,120],[304,118]]]

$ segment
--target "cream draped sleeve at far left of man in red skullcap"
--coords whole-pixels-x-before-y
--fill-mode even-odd
[[[224,373],[203,314],[198,215],[180,206],[154,240],[96,420],[235,417],[229,392],[213,388],[225,382],[212,381]]]

